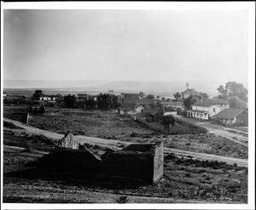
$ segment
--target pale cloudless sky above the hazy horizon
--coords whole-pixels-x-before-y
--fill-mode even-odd
[[[243,9],[4,9],[3,78],[248,80]]]

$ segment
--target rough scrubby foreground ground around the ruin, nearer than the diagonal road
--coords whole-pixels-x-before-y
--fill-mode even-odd
[[[38,173],[32,164],[38,157],[33,151],[51,150],[49,141],[38,136],[28,138],[4,133],[4,145],[22,146],[28,142],[34,143],[30,144],[30,150],[4,151],[3,202],[100,203],[106,202],[107,198],[110,203],[247,202],[247,167],[184,159],[169,154],[165,156],[164,179],[159,184],[92,183],[74,179],[74,176],[59,179]],[[75,198],[71,196],[73,193]],[[108,196],[99,199],[104,194]]]

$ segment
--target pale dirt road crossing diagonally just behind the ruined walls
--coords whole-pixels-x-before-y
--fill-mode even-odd
[[[3,121],[6,122],[13,122],[17,127],[24,128],[26,130],[26,133],[31,133],[35,135],[44,135],[45,137],[53,140],[58,140],[63,138],[63,134],[61,133],[55,133],[51,132],[48,130],[43,130],[39,128],[34,128],[31,126],[27,126],[23,124],[22,122],[10,120],[8,118],[3,118]],[[114,139],[100,139],[96,137],[87,137],[87,136],[75,136],[75,138],[79,141],[80,144],[84,143],[89,143],[89,144],[97,144],[97,145],[102,145],[102,146],[107,146],[107,147],[112,147],[114,150],[119,150],[120,145],[130,145],[131,142],[128,141],[119,141],[119,140],[114,140]],[[188,150],[177,150],[177,149],[171,149],[171,148],[166,148],[165,147],[165,152],[166,153],[174,153],[178,156],[192,156],[196,159],[201,159],[201,160],[212,160],[212,161],[218,161],[218,162],[227,162],[229,164],[234,164],[236,163],[238,166],[243,166],[247,167],[248,161],[247,159],[239,159],[239,158],[232,158],[232,157],[227,157],[227,156],[217,156],[217,155],[212,155],[212,154],[207,154],[207,153],[197,153],[197,152],[192,152]]]

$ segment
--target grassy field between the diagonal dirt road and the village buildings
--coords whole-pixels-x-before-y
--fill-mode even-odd
[[[4,107],[4,116],[22,121],[26,107]],[[122,116],[115,111],[84,111],[72,109],[47,108],[45,115],[32,116],[30,125],[56,133],[84,135],[102,139],[119,139],[128,142],[157,142],[163,141],[165,147],[180,150],[190,150],[247,158],[248,150],[225,137],[213,133],[167,135],[155,133],[139,122],[134,122],[129,116]],[[177,125],[178,128],[181,125]],[[186,128],[187,129],[187,128]]]

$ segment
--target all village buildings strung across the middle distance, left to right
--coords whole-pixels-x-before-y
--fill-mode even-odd
[[[195,89],[189,88],[181,93],[182,99],[187,99],[191,94],[199,94]],[[113,91],[109,91],[111,94]],[[91,100],[94,102],[95,108],[97,107],[96,95],[78,94],[79,107],[85,107],[85,102]],[[9,100],[28,100],[29,97],[17,94],[3,93],[3,99]],[[40,105],[55,104],[56,102],[63,102],[64,98],[61,94],[55,95],[42,95],[37,102]],[[184,109],[183,101],[172,100],[157,100],[148,99],[147,97],[140,96],[139,94],[120,94],[119,95],[119,113],[129,113],[138,116],[147,121],[159,121],[164,116],[165,111],[177,111],[190,118],[198,120],[211,120],[213,122],[220,122],[225,124],[232,124],[237,126],[248,125],[248,111],[241,109],[230,108],[228,101],[224,99],[206,99],[195,102],[191,105],[191,109]]]

